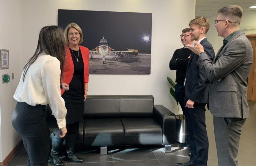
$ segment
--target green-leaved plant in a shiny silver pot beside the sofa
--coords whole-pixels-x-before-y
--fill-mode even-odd
[[[187,134],[187,121],[184,114],[180,114],[179,110],[179,102],[177,97],[175,96],[174,86],[176,85],[174,81],[171,80],[170,77],[167,77],[168,82],[171,85],[169,92],[171,96],[175,99],[179,114],[176,115],[176,142],[184,143],[188,139]]]

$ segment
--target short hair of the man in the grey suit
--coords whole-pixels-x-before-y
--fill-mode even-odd
[[[243,9],[238,5],[229,5],[218,10],[218,13],[230,18],[231,24],[239,26],[243,16]]]

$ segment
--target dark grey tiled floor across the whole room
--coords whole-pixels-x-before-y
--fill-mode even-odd
[[[250,116],[242,129],[239,147],[239,166],[256,166],[256,102],[248,101]],[[206,125],[209,137],[208,166],[217,166],[217,152],[213,132],[213,116],[206,111]],[[108,155],[100,155],[97,150],[77,153],[84,159],[83,163],[64,161],[64,166],[175,166],[176,162],[189,160],[189,149],[179,149],[178,144],[172,145],[171,153],[164,153],[161,147],[129,148],[110,150]],[[8,166],[26,165],[27,153],[22,146]],[[49,161],[49,165],[52,164]],[[74,166],[74,165],[73,165]]]

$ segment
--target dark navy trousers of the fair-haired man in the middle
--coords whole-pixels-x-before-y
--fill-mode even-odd
[[[184,103],[187,103],[187,100]],[[206,166],[208,161],[209,141],[205,124],[205,105],[195,103],[193,109],[185,107],[190,138],[190,161],[196,166]]]

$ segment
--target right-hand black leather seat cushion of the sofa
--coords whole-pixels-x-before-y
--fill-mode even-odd
[[[121,118],[125,145],[162,144],[163,132],[154,118]]]

